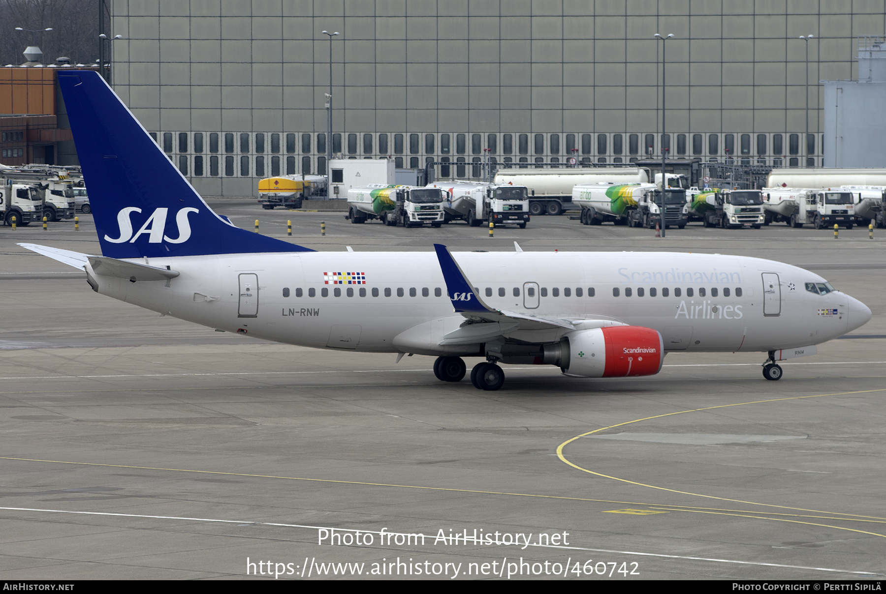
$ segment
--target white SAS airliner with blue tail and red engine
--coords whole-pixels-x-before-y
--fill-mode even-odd
[[[209,328],[320,349],[436,356],[498,390],[497,363],[575,377],[657,374],[668,351],[761,351],[776,361],[859,328],[871,311],[818,274],[686,253],[319,252],[214,213],[105,81],[58,73],[102,256],[27,249],[92,289]],[[205,158],[212,158],[206,155]],[[158,191],[162,189],[162,191]]]

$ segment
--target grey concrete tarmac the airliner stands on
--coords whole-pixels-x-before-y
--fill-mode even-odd
[[[673,353],[661,374],[633,380],[506,366],[505,387],[482,392],[438,382],[427,357],[395,364],[158,317],[16,245],[97,253],[89,215],[80,231],[0,228],[0,579],[275,579],[268,562],[280,579],[341,579],[329,563],[363,564],[344,570],[370,579],[381,567],[400,579],[457,567],[462,580],[502,567],[512,580],[886,573],[886,232],[834,240],[691,224],[656,239],[561,216],[489,238],[463,224],[385,228],[211,204],[242,227],[258,218],[262,233],[330,251],[517,241],[778,259],[824,275],[874,317],[786,362],[779,382],[763,379],[762,354]],[[362,544],[318,544],[318,528],[346,542],[360,531]],[[475,529],[491,544],[437,538]],[[503,544],[517,534],[529,544]]]

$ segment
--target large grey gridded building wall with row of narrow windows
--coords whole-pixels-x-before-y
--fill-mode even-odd
[[[818,81],[857,78],[883,0],[113,0],[113,87],[208,196],[334,152],[527,165],[661,154],[821,166]],[[799,35],[815,35],[806,42]],[[806,85],[812,137],[804,143]],[[212,136],[215,135],[215,136]],[[215,150],[216,152],[213,152]],[[465,165],[455,162],[463,159]],[[811,160],[807,160],[811,159]],[[438,172],[438,175],[440,172]],[[476,174],[476,175],[475,175]]]

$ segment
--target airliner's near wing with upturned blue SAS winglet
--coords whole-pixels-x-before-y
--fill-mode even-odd
[[[434,243],[434,250],[437,251],[452,306],[455,312],[467,319],[467,323],[447,334],[440,344],[484,342],[517,331],[579,330],[625,325],[621,320],[605,317],[598,320],[567,319],[494,309],[474,292],[467,275],[445,245]]]

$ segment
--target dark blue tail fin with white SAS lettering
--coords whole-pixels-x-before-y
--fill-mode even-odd
[[[58,73],[102,254],[159,258],[313,251],[213,212],[93,71]]]

